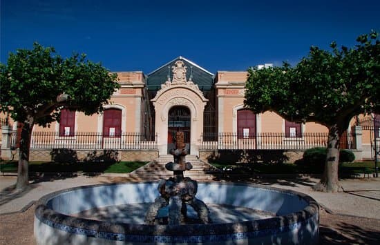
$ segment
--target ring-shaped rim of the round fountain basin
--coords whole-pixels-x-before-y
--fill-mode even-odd
[[[41,197],[36,203],[35,217],[41,222],[50,226],[60,224],[62,226],[69,226],[71,228],[91,229],[97,232],[104,233],[117,233],[117,234],[133,234],[133,235],[175,235],[181,236],[191,235],[220,235],[224,233],[241,233],[241,232],[254,232],[262,230],[271,230],[274,228],[284,228],[284,231],[289,229],[289,226],[295,226],[299,223],[305,223],[310,218],[318,215],[319,217],[319,204],[315,199],[304,193],[299,193],[294,190],[285,190],[275,188],[272,186],[263,186],[260,184],[251,184],[243,182],[198,182],[198,184],[218,184],[218,185],[231,185],[231,186],[247,186],[251,188],[261,188],[272,190],[286,195],[296,195],[300,199],[307,202],[307,206],[302,210],[298,210],[288,215],[281,215],[270,217],[267,219],[256,219],[244,222],[231,222],[231,223],[216,223],[216,224],[178,224],[178,225],[149,225],[149,224],[129,224],[129,223],[113,223],[101,220],[85,219],[82,217],[74,217],[59,213],[46,204],[50,199],[57,195],[67,193],[73,190],[81,190],[87,188],[96,188],[99,186],[117,186],[124,184],[158,184],[159,182],[124,182],[124,183],[111,183],[111,184],[95,184],[89,186],[77,186],[73,188],[66,188],[57,190],[48,195]],[[196,233],[195,233],[196,232]]]

